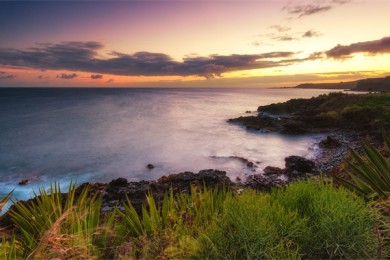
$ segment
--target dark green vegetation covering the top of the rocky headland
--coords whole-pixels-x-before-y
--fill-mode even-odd
[[[390,93],[330,93],[310,99],[291,99],[259,107],[273,114],[293,114],[308,129],[339,127],[378,131],[390,128]]]

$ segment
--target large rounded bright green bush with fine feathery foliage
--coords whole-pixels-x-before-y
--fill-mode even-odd
[[[370,258],[376,249],[364,201],[312,182],[227,200],[199,240],[199,258]]]

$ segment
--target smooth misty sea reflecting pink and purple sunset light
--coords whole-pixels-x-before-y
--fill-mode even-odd
[[[27,199],[50,181],[132,181],[182,171],[251,171],[310,157],[321,136],[246,131],[229,118],[259,105],[312,97],[303,89],[0,89],[0,197]],[[254,113],[255,114],[255,113]],[[156,166],[153,170],[147,164]],[[18,186],[21,179],[31,184]]]

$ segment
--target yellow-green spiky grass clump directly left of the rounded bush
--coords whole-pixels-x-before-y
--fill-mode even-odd
[[[148,207],[138,215],[129,199],[124,212],[118,211],[118,227],[128,250],[119,250],[122,257],[154,258],[169,256],[189,257],[197,250],[195,237],[221,212],[224,200],[231,196],[225,188],[198,190],[191,187],[190,194],[165,194],[161,206],[154,197],[147,196]],[[130,248],[130,250],[129,250]]]

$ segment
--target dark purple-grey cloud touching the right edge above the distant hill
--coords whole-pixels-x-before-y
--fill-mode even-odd
[[[353,53],[382,54],[390,53],[390,37],[380,40],[358,42],[350,45],[337,45],[325,52],[327,57],[334,59],[345,59],[351,57]]]

